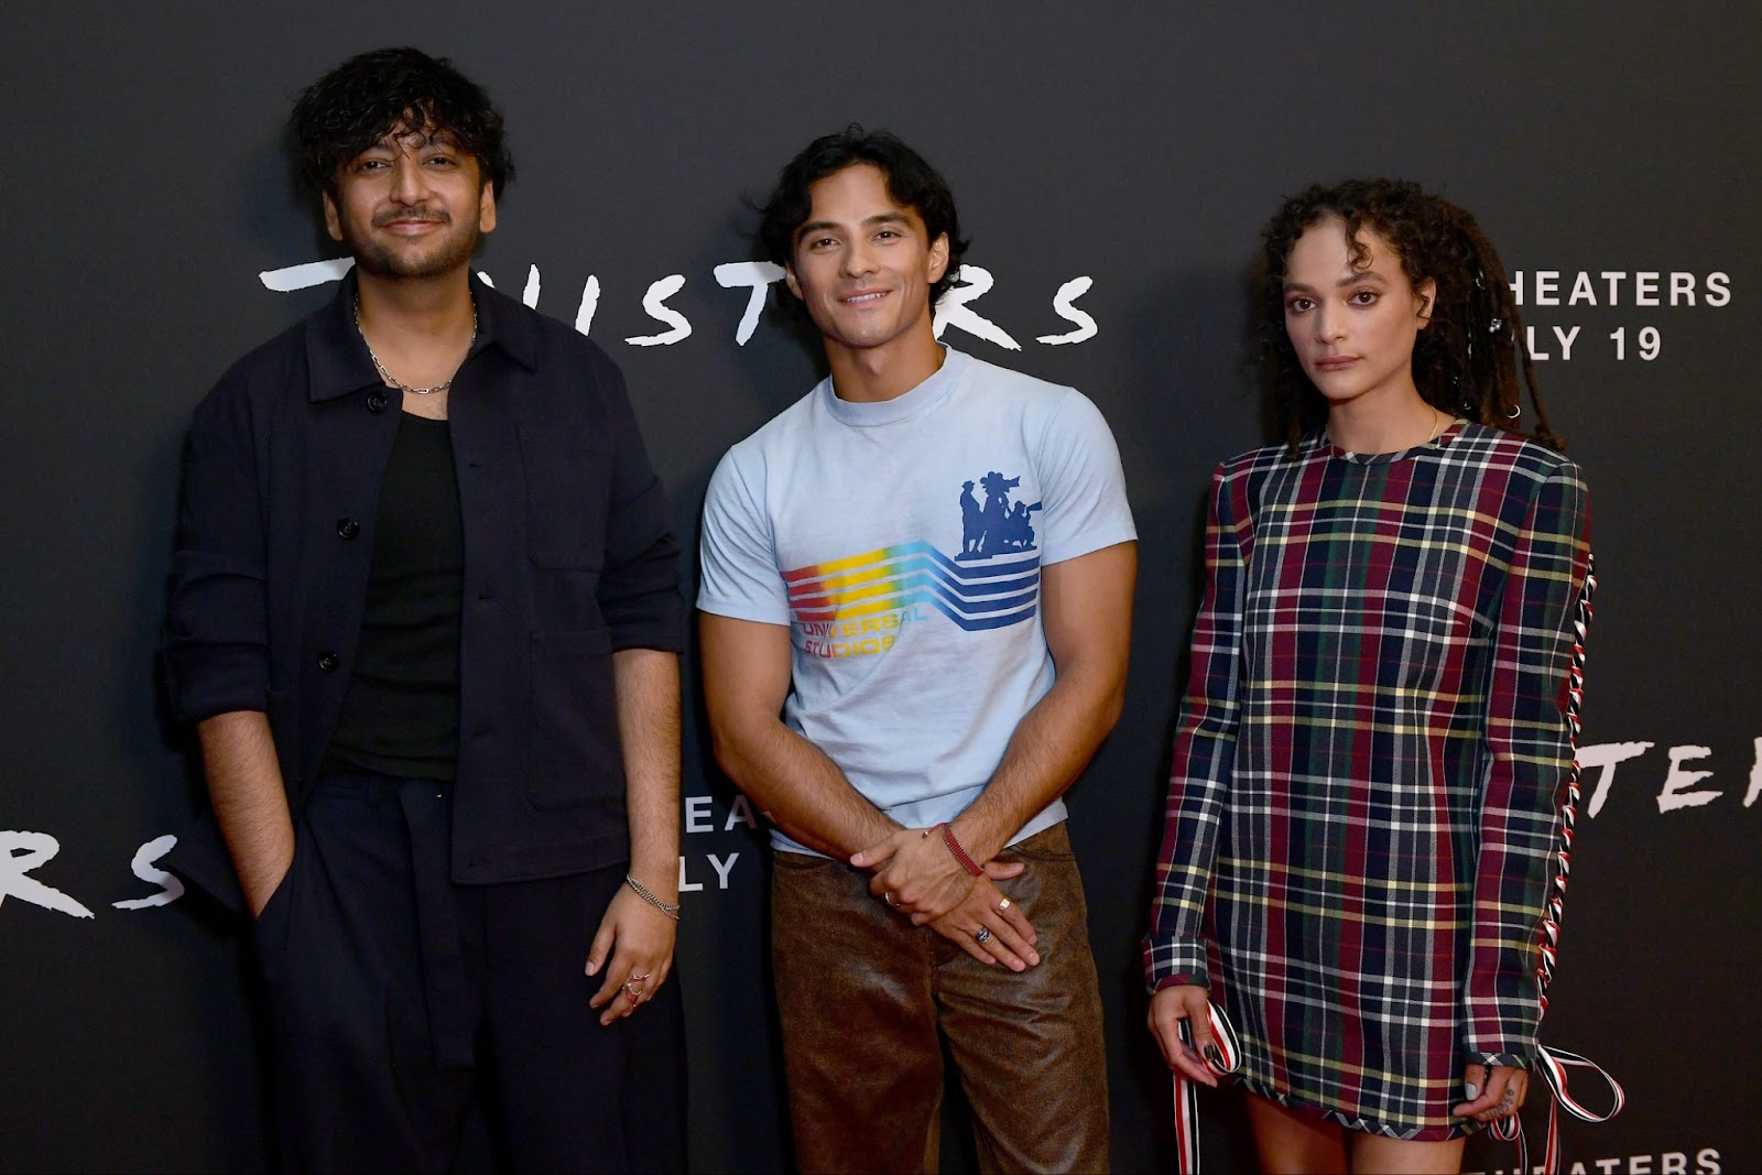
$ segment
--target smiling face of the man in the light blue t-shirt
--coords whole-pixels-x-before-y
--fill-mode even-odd
[[[923,217],[893,203],[886,176],[872,164],[832,173],[809,197],[786,280],[833,363],[837,352],[934,354],[930,285],[948,268],[948,238],[932,241]]]

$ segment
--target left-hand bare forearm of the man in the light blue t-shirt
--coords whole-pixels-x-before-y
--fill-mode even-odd
[[[777,719],[717,733],[715,757],[765,819],[816,853],[842,861],[899,828],[826,752]]]

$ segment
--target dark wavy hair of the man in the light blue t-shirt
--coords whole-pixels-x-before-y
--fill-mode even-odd
[[[759,241],[765,252],[781,266],[795,259],[795,231],[807,224],[814,201],[809,188],[830,174],[856,164],[874,164],[886,178],[886,194],[893,203],[916,210],[930,241],[948,236],[948,268],[930,287],[930,305],[948,289],[959,285],[960,257],[971,241],[960,236],[960,218],[955,215],[955,196],[948,181],[923,155],[886,130],[863,130],[851,123],[839,134],[828,134],[807,144],[800,155],[777,173],[777,187],[759,208]]]

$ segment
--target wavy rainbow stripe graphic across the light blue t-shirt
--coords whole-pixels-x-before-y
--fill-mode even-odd
[[[849,617],[929,604],[967,632],[1020,624],[1040,606],[1040,553],[957,564],[929,543],[902,543],[782,573],[789,611],[809,632]]]

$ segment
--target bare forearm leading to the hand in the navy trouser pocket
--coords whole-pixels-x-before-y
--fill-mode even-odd
[[[233,872],[257,916],[294,860],[294,823],[270,719],[259,710],[234,710],[204,719],[196,733]]]

